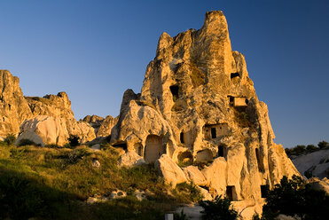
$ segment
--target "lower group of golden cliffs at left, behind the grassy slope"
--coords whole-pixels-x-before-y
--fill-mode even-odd
[[[0,70],[0,137],[20,133],[24,135],[19,139],[31,138],[41,145],[64,144],[68,135],[77,135],[82,142],[96,137],[88,123],[74,119],[67,93],[24,97],[19,83],[18,77]]]

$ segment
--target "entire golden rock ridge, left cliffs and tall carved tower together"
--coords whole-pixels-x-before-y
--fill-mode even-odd
[[[226,196],[246,219],[262,213],[264,189],[300,175],[273,141],[268,108],[244,56],[231,51],[223,12],[207,12],[200,30],[163,33],[141,93],[125,91],[117,118],[76,122],[65,92],[24,97],[9,71],[0,72],[0,89],[0,136],[64,145],[70,135],[111,135],[121,167],[154,165],[173,189],[190,182],[207,200]]]

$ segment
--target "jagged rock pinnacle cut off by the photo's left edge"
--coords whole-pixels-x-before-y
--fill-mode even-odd
[[[18,134],[20,124],[32,116],[20,89],[20,79],[0,70],[0,137]]]

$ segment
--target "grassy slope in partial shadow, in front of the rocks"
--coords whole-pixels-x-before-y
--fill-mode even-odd
[[[99,168],[92,167],[98,159]],[[191,185],[171,190],[151,165],[119,168],[113,147],[92,152],[75,149],[14,146],[0,143],[0,219],[161,219],[180,203],[199,200]],[[119,189],[128,196],[103,203],[85,203],[95,194]],[[147,200],[136,190],[149,192]]]

